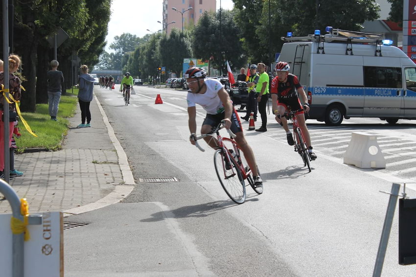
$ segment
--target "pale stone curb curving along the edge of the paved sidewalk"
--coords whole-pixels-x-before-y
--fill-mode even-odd
[[[121,147],[120,142],[117,140],[116,134],[114,133],[114,129],[110,125],[107,115],[105,114],[104,109],[102,108],[100,102],[98,101],[98,98],[95,95],[95,93],[94,93],[94,99],[102,115],[104,125],[107,127],[108,135],[116,149],[116,153],[118,156],[118,164],[120,166],[124,184],[116,185],[115,189],[112,192],[110,192],[107,196],[104,196],[103,198],[97,200],[96,202],[63,211],[64,217],[75,215],[75,214],[80,214],[80,213],[87,213],[87,212],[97,210],[97,209],[100,209],[100,208],[103,208],[112,204],[119,203],[133,191],[136,185],[134,177],[133,177],[133,172],[131,171],[129,162],[127,160],[126,152],[124,152],[124,149]]]

